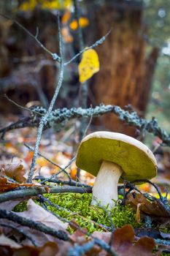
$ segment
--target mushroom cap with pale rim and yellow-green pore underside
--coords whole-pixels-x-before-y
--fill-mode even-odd
[[[157,174],[152,151],[139,140],[117,132],[93,132],[80,143],[77,167],[97,176],[103,161],[115,162],[122,167],[122,177],[128,181],[150,179]]]

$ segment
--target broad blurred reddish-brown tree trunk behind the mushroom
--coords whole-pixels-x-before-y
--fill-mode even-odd
[[[142,3],[106,2],[104,6],[93,8],[95,39],[107,34],[112,27],[111,34],[97,48],[101,69],[93,79],[95,104],[103,102],[119,105],[121,108],[131,104],[144,116],[158,48],[152,49],[146,57],[146,28],[142,23]],[[106,129],[135,136],[134,129],[125,127],[112,114],[103,116],[101,121]]]

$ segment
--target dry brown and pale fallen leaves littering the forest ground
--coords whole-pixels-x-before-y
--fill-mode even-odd
[[[16,149],[18,148],[17,138],[19,138],[20,141],[23,141],[21,134],[20,137],[16,137],[14,135],[10,135],[9,133],[9,137],[12,141],[7,144],[6,149],[7,152],[9,152],[7,153],[8,157],[3,157],[3,161],[1,161],[0,163],[1,192],[28,186],[26,184],[26,173],[28,172],[28,166],[30,165],[32,154],[30,151],[26,150],[22,143],[20,144],[20,149]],[[4,148],[3,156],[5,151]],[[41,146],[41,151],[49,151],[50,153],[48,154],[48,157],[53,157],[53,160],[55,162],[58,162],[58,160],[60,159],[59,165],[62,165],[62,160],[65,159],[63,161],[63,166],[66,165],[66,162],[69,162],[69,159],[72,157],[71,151],[68,151],[68,147],[66,147],[66,150],[62,150],[62,153],[60,151],[60,154],[58,155],[59,151],[54,153],[54,148],[58,148],[56,146],[56,143],[53,143],[52,140],[48,140],[48,143],[47,141],[45,142],[45,146]],[[11,155],[17,157],[18,161],[12,162],[12,158],[9,157]],[[56,168],[50,165],[49,162],[43,161],[44,160],[38,161],[39,167],[37,167],[37,173],[39,172],[39,170],[41,171],[41,167],[46,168],[48,172],[47,176],[50,176],[57,171]],[[88,178],[90,183],[90,180],[93,180],[93,177],[90,176]],[[7,201],[5,203],[1,203],[0,208],[12,210],[12,208],[19,202],[20,200]],[[96,239],[99,239],[99,241],[104,241],[107,245],[110,245],[110,248],[113,250],[113,252],[115,252],[115,255],[120,256],[161,255],[161,252],[163,250],[168,253],[170,251],[169,246],[163,246],[162,244],[159,244],[156,239],[164,239],[164,241],[169,241],[169,211],[166,211],[165,208],[163,208],[161,206],[161,203],[159,203],[158,201],[150,202],[150,200],[147,200],[142,194],[137,194],[136,197],[134,197],[133,192],[128,194],[126,204],[130,205],[132,208],[135,209],[137,222],[140,222],[144,216],[151,217],[153,222],[158,222],[158,219],[163,219],[163,221],[158,225],[158,227],[162,228],[162,231],[158,230],[158,227],[139,227],[134,230],[131,225],[125,225],[120,228],[115,227],[115,231],[113,233],[110,233],[109,231],[95,231],[90,236],[85,236],[85,233],[87,233],[87,231],[84,230],[85,232],[82,233],[81,230],[79,230],[78,228],[77,230],[75,229],[76,231],[72,235],[69,235],[70,241],[61,241],[58,238],[54,238],[53,236],[46,235],[37,230],[33,230],[29,227],[23,227],[15,223],[15,227],[18,227],[18,229],[22,229],[23,232],[31,235],[34,241],[36,241],[37,247],[33,246],[28,238],[21,238],[15,230],[12,230],[8,227],[1,227],[0,255],[4,255],[4,252],[7,252],[6,255],[14,255],[15,253],[15,255],[19,256],[28,254],[41,256],[64,256],[72,255],[71,249],[73,248],[75,255],[81,255],[79,249],[77,249],[77,246],[83,246],[84,255],[112,255],[109,254],[109,252],[104,249],[100,245],[100,243],[98,245],[98,240]],[[47,212],[41,206],[38,206],[31,199],[28,200],[27,210],[23,211],[22,213],[18,213],[18,215],[34,219],[37,222],[45,223],[45,225],[50,225],[50,227],[55,227],[56,229],[66,230],[66,228],[68,227],[67,223],[61,222],[61,220],[59,220],[53,214]],[[156,220],[157,217],[158,219]],[[4,219],[1,219],[0,223],[2,223],[3,221]],[[10,222],[8,220],[6,221],[6,224],[11,223],[12,225],[14,225],[13,222]],[[165,223],[168,224],[163,226],[163,224]],[[155,230],[157,230],[157,233]],[[152,234],[152,236],[150,234]],[[91,241],[94,241],[93,247],[91,249],[87,249],[89,246],[88,243],[90,243]],[[155,252],[155,254],[152,254],[152,252]]]

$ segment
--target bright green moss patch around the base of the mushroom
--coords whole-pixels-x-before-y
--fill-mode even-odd
[[[125,224],[131,224],[133,227],[139,227],[135,220],[135,212],[130,206],[117,206],[109,211],[97,206],[90,206],[90,194],[47,194],[45,195],[52,203],[60,206],[59,209],[47,205],[47,208],[61,217],[72,220],[74,219],[82,228],[86,228],[89,233],[96,230],[107,231],[107,227],[114,225],[115,227],[122,227]],[[37,203],[37,202],[36,202]],[[14,211],[25,211],[26,201],[15,206]],[[105,227],[106,226],[106,227]],[[69,227],[69,232],[74,230]]]

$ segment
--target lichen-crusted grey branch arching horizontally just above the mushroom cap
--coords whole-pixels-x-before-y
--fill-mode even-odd
[[[47,113],[45,108],[36,106],[34,108],[36,112],[39,112],[43,115]],[[93,113],[91,111],[93,110]],[[50,128],[53,126],[53,124],[66,124],[66,121],[71,120],[72,118],[88,118],[90,116],[97,117],[102,116],[106,113],[115,113],[115,115],[120,118],[120,120],[124,121],[126,124],[128,124],[131,127],[136,127],[141,132],[150,132],[153,135],[157,136],[158,138],[161,138],[163,143],[161,146],[170,146],[170,134],[168,134],[164,129],[158,126],[158,122],[155,118],[152,118],[152,120],[145,120],[144,118],[141,118],[138,116],[136,111],[128,111],[123,110],[117,105],[98,105],[95,108],[62,108],[62,109],[56,109],[53,110],[50,113],[50,116],[47,118],[47,124],[45,126],[45,129]],[[11,129],[18,129],[23,127],[37,127],[39,124],[39,115],[31,116],[22,118],[19,121],[10,124],[8,127],[0,129],[0,133],[2,135],[5,134],[5,132],[8,132]]]

